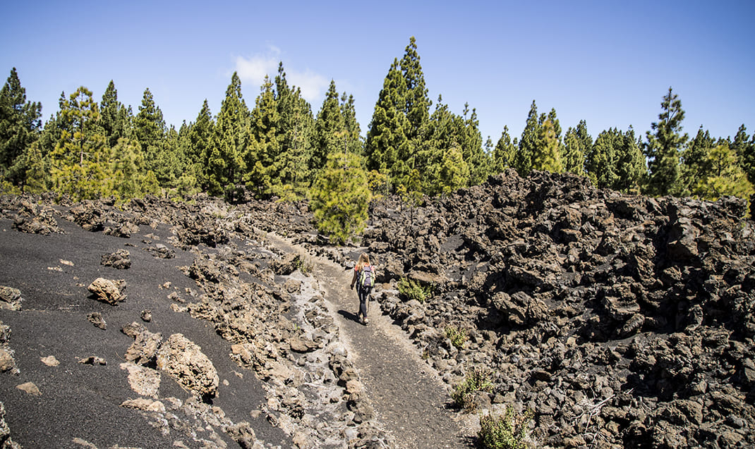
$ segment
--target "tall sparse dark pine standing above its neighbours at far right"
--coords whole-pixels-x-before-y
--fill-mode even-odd
[[[684,110],[682,101],[668,88],[661,102],[658,121],[653,122],[646,134],[644,152],[648,158],[649,179],[646,193],[649,195],[680,195],[683,186],[680,180],[680,154],[687,134],[681,134]]]

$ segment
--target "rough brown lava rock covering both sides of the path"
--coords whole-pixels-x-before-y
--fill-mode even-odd
[[[283,429],[283,446],[396,442],[372,413],[359,366],[316,279],[302,273],[307,258],[274,248],[264,232],[288,236],[344,268],[366,249],[380,275],[374,296],[448,393],[472,373],[490,381],[460,414],[532,411],[531,439],[542,447],[752,447],[755,229],[739,218],[745,207],[735,198],[627,196],[570,175],[523,179],[510,171],[417,208],[396,198],[375,201],[363,248],[329,247],[304,203],[232,207],[206,197],[192,204],[146,198],[119,209],[112,201],[53,206],[45,198],[3,197],[0,218],[13,232],[54,235],[75,223],[131,242],[119,245],[126,252],[102,254],[110,273],[132,269],[134,251],[180,260],[183,280],[174,283],[190,287],[168,286],[155,306],[211,323],[230,342],[227,355],[254,372],[265,395],[261,407],[244,413]],[[109,279],[113,286],[100,282],[100,289],[117,297],[119,277]],[[432,294],[408,300],[399,294],[401,279]],[[139,299],[133,281],[127,284],[128,300],[116,303]],[[23,293],[4,295],[3,308],[23,309]],[[102,310],[88,316],[93,328],[107,318],[107,307],[122,307],[98,303]],[[0,316],[10,322],[11,313]],[[180,354],[195,349],[190,338],[169,328],[158,335],[142,315],[133,321],[117,324],[133,342],[120,351],[128,371],[140,379],[162,374],[194,399],[155,398],[147,382],[139,388],[149,400],[121,407],[176,433],[194,425],[182,424],[177,409],[217,395],[203,424],[215,434],[205,441],[270,446],[259,438],[260,424],[236,418],[230,404],[221,407],[230,388],[222,372],[218,383],[200,355],[193,364],[205,366],[202,376],[181,368]],[[17,369],[14,339],[10,331],[0,335],[8,367],[0,377],[8,378]],[[13,414],[8,403],[5,409],[6,417]]]

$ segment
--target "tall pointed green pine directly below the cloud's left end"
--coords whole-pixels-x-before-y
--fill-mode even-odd
[[[250,113],[241,93],[241,79],[233,72],[209,145],[207,171],[211,195],[226,195],[235,201],[251,145],[254,142],[250,139]]]

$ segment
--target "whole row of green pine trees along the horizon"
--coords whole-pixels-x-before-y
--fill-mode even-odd
[[[72,199],[197,192],[239,201],[245,195],[309,198],[322,230],[344,238],[366,217],[374,193],[442,195],[484,182],[507,168],[570,172],[601,188],[646,195],[749,198],[755,183],[755,134],[683,134],[681,100],[669,88],[645,139],[633,128],[601,131],[586,122],[565,133],[556,110],[530,106],[522,135],[506,126],[495,146],[479,132],[476,110],[433,107],[415,39],[384,78],[366,138],[353,96],[331,81],[319,112],[288,85],[282,63],[266,77],[254,105],[234,73],[217,115],[205,100],[180,128],[168,127],[147,88],[136,113],[112,81],[100,102],[88,88],[60,95],[44,125],[42,106],[26,100],[16,69],[0,91],[3,191],[52,190]],[[432,110],[431,110],[432,109]],[[355,224],[356,223],[356,224]],[[356,228],[355,228],[356,226]]]

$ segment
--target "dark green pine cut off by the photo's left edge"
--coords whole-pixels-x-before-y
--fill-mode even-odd
[[[17,159],[39,137],[41,115],[40,103],[26,101],[26,89],[14,67],[0,90],[0,180],[23,189],[26,171],[19,168]],[[19,169],[12,170],[14,166]]]

